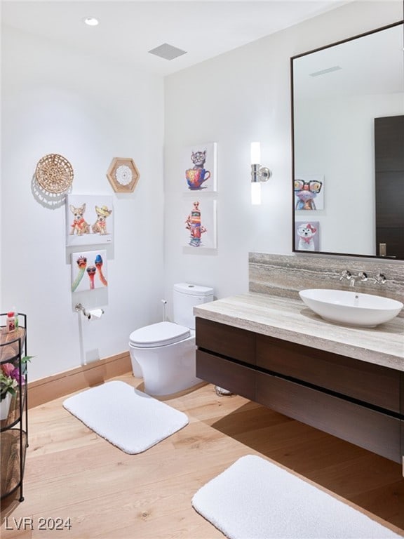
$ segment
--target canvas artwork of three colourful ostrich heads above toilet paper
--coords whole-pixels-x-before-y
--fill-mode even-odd
[[[72,293],[106,286],[107,251],[72,253]]]

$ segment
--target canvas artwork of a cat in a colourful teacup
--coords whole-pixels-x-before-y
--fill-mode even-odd
[[[217,144],[206,142],[184,150],[182,186],[185,192],[216,191]]]

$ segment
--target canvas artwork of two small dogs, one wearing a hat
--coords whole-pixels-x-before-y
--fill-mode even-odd
[[[66,199],[66,245],[112,244],[112,197],[69,194]]]

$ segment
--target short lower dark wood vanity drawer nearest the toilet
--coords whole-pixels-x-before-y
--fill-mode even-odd
[[[196,376],[246,399],[255,399],[255,371],[252,368],[196,350]]]

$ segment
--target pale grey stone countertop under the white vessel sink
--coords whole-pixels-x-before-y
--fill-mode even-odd
[[[302,300],[245,293],[194,307],[196,317],[404,371],[404,319],[375,328],[323,320]]]

